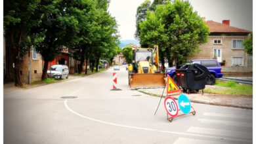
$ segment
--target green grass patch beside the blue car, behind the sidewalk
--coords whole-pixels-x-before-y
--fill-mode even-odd
[[[216,82],[215,86],[223,86],[226,88],[219,89],[219,90],[211,90],[209,88],[206,88],[204,91],[207,93],[214,93],[214,94],[253,96],[253,86],[250,84],[238,84],[236,82],[228,81],[228,82]]]

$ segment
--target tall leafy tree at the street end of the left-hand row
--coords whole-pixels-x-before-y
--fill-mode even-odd
[[[107,12],[109,1],[92,1],[92,4],[88,14],[80,14],[79,30],[70,46],[74,50],[73,57],[80,60],[79,73],[83,70],[84,60],[90,60],[91,71],[94,71],[95,66],[98,71],[100,58],[113,60],[117,52],[119,35],[116,20]]]

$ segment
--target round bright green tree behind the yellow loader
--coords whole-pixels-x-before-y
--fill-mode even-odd
[[[139,26],[140,41],[148,45],[158,43],[169,65],[173,61],[179,65],[198,53],[199,45],[207,43],[209,34],[209,27],[188,1],[159,5],[155,12],[148,12]]]

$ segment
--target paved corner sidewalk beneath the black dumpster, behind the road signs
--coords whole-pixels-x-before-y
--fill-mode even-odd
[[[149,94],[151,96],[159,96],[163,93],[163,98],[166,97],[166,89],[163,92],[163,88],[151,88],[151,89],[139,89],[139,92]],[[183,93],[194,103],[204,103],[209,105],[222,105],[226,107],[238,107],[242,109],[253,109],[253,97],[252,96],[233,96],[233,95],[221,95],[221,94],[207,94],[202,92],[191,92],[190,94]],[[174,99],[178,99],[179,96],[172,96]]]

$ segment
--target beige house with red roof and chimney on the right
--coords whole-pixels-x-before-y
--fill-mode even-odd
[[[252,56],[245,53],[242,44],[251,31],[230,26],[230,20],[223,20],[222,24],[212,20],[205,23],[211,31],[208,42],[190,60],[216,58],[224,67],[252,66]]]

